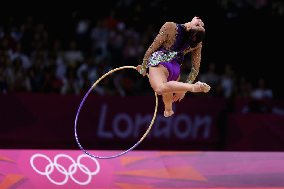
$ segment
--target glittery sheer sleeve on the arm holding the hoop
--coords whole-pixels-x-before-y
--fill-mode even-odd
[[[163,44],[163,42],[167,39],[168,37],[168,32],[167,30],[169,29],[169,27],[171,27],[171,24],[173,24],[172,22],[166,22],[160,29],[159,34],[157,35],[157,37],[155,38],[155,40],[153,41],[152,45],[148,48],[148,50],[146,51],[145,55],[144,55],[144,59],[140,68],[140,74],[145,72],[147,69],[147,64],[148,64],[148,58],[149,56],[155,52],[157,49],[159,49],[159,47]]]

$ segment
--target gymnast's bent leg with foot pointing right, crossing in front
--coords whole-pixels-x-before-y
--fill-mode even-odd
[[[182,83],[178,81],[167,82],[168,76],[169,72],[163,65],[159,64],[154,67],[149,66],[149,81],[151,87],[158,95],[184,91],[202,92],[205,90],[205,86],[203,86],[201,82],[197,82],[195,84]]]

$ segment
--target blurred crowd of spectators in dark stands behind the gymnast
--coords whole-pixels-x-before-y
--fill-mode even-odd
[[[117,9],[120,9],[118,1]],[[153,1],[157,2],[157,1]],[[159,2],[159,1],[158,1]],[[227,2],[227,3],[226,3]],[[227,17],[237,17],[233,7],[241,6],[239,1],[220,1],[228,9]],[[264,6],[266,1],[256,1],[255,9]],[[273,14],[283,14],[283,3],[273,4]],[[158,6],[151,4],[151,6]],[[282,9],[281,9],[282,7]],[[163,9],[167,7],[163,6]],[[22,22],[10,17],[5,25],[0,25],[0,93],[60,93],[85,94],[91,85],[103,74],[114,68],[141,64],[144,53],[156,37],[158,30],[149,23],[143,27],[130,25],[125,17],[117,16],[116,9],[105,17],[91,21],[75,19],[75,27],[69,29],[71,35],[64,39],[56,37],[54,30],[45,23],[34,22],[35,17],[27,16]],[[141,6],[133,7],[132,20],[141,19]],[[74,11],[72,15],[78,14]],[[122,15],[122,14],[120,14]],[[129,19],[129,18],[128,18]],[[2,24],[2,23],[1,23]],[[69,36],[72,36],[68,38]],[[202,58],[201,58],[202,64]],[[257,85],[236,74],[232,65],[227,64],[222,73],[216,72],[216,64],[208,62],[208,68],[200,70],[197,80],[206,82],[212,97],[253,97],[272,98],[273,92],[266,87],[266,81],[259,78]],[[201,67],[204,68],[204,67]],[[185,81],[191,69],[190,57],[181,66],[181,79]],[[135,71],[136,72],[136,71]],[[93,93],[99,95],[131,95],[148,93],[149,83],[136,73],[121,70],[102,80]],[[143,90],[147,88],[147,90]],[[135,92],[133,92],[135,91]],[[146,91],[146,92],[145,92]]]

